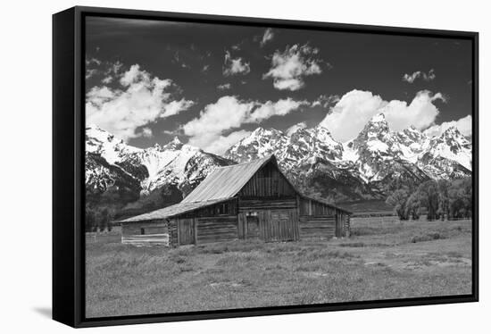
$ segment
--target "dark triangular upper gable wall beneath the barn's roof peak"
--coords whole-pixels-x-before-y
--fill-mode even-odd
[[[245,198],[295,198],[295,195],[295,189],[288,183],[274,163],[264,165],[237,194],[237,196]]]

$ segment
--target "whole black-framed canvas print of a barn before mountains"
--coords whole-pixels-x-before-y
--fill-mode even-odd
[[[53,316],[478,300],[478,34],[53,17]]]

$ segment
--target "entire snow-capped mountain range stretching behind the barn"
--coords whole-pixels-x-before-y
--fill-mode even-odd
[[[331,201],[383,199],[403,184],[461,179],[471,175],[472,144],[458,129],[429,138],[413,127],[392,131],[383,113],[375,115],[358,136],[337,142],[318,125],[288,135],[277,129],[255,129],[219,156],[174,138],[165,146],[129,146],[96,126],[86,129],[87,194],[108,189],[124,202],[172,187],[186,196],[213,169],[275,154],[279,167],[297,188]]]

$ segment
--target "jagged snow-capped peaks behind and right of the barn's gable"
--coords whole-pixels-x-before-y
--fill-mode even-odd
[[[342,199],[382,198],[405,182],[454,179],[470,175],[471,144],[457,129],[428,138],[414,127],[394,132],[383,113],[346,143],[321,126],[287,136],[256,129],[231,146],[225,156],[244,163],[275,154],[298,187]]]

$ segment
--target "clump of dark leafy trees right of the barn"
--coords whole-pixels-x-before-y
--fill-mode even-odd
[[[426,213],[428,221],[472,218],[472,180],[428,180],[418,187],[402,186],[387,197],[400,220],[418,220]]]

